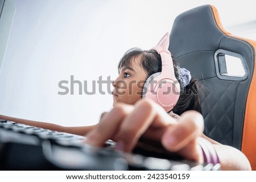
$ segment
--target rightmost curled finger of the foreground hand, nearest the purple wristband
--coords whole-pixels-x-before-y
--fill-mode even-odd
[[[196,111],[187,111],[180,121],[170,126],[162,137],[163,146],[169,151],[178,151],[203,133],[203,116]]]

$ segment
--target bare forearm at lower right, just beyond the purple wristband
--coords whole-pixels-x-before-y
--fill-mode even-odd
[[[249,160],[238,149],[221,144],[213,144],[221,163],[221,170],[251,170]]]

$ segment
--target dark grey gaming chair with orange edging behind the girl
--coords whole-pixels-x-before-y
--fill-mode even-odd
[[[255,48],[255,41],[225,31],[212,5],[199,6],[177,16],[168,48],[180,66],[191,71],[199,82],[204,133],[241,150],[253,170],[256,170]],[[232,61],[237,59],[242,74],[229,74],[228,64],[233,65]]]

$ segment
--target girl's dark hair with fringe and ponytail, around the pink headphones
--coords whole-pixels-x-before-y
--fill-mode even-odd
[[[131,61],[134,60],[134,58],[139,58],[141,60],[141,66],[145,70],[147,78],[154,73],[162,71],[162,60],[156,50],[142,50],[139,48],[127,50],[119,61],[118,69],[126,66],[130,67]],[[175,77],[177,78],[177,81],[181,83],[179,77],[180,66],[173,56],[172,62],[174,64]],[[179,100],[172,109],[172,111],[177,115],[181,115],[181,113],[188,110],[195,110],[201,113],[199,86],[197,80],[193,78],[185,88],[181,88]]]

